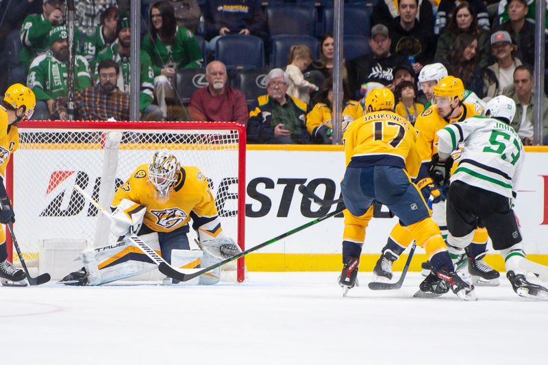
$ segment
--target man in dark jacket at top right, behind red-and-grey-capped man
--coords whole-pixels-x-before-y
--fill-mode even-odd
[[[516,57],[523,63],[534,66],[535,62],[535,25],[527,21],[527,0],[508,1],[508,20],[501,23],[497,30],[504,30],[516,42]],[[534,13],[534,10],[533,10]]]

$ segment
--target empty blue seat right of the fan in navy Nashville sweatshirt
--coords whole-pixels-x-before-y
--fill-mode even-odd
[[[314,36],[316,8],[313,4],[276,4],[266,7],[266,24],[271,37],[280,34]]]

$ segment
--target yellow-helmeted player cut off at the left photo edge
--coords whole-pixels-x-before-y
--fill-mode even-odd
[[[5,168],[19,145],[17,124],[32,116],[35,105],[34,92],[22,84],[10,86],[5,91],[0,105],[0,201],[4,207],[4,210],[0,211],[0,223],[4,225],[15,221],[12,203],[4,187]],[[3,285],[24,286],[26,284],[16,284],[16,281],[24,280],[25,277],[23,270],[15,268],[8,261],[5,231],[0,225],[0,281]]]

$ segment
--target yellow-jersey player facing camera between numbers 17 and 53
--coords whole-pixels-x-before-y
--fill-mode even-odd
[[[438,152],[438,136],[436,132],[443,127],[464,121],[471,116],[479,115],[482,108],[478,105],[463,103],[464,85],[457,77],[447,76],[438,81],[434,86],[434,104],[425,110],[415,123],[415,129],[419,134],[416,141],[416,148],[419,151],[422,166],[417,178],[417,184],[425,184],[429,177],[427,175],[427,166],[432,160],[432,156]],[[432,219],[439,225],[442,234],[447,237],[447,224],[445,222],[445,198],[442,196],[434,200],[432,206]],[[461,268],[468,261],[469,273],[475,284],[480,285],[498,285],[499,273],[488,266],[483,258],[486,255],[487,231],[477,229],[472,244],[467,248],[466,255],[451,258],[458,263]],[[390,281],[392,279],[392,264],[395,262],[403,250],[412,242],[412,236],[406,227],[400,224],[395,225],[390,232],[388,242],[382,249],[382,255],[377,260],[373,272],[375,276],[373,281]],[[428,275],[430,265],[428,262],[423,264],[423,275]]]

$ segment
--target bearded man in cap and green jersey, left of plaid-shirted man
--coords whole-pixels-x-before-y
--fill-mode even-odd
[[[48,35],[49,50],[38,55],[29,68],[27,84],[36,95],[33,119],[49,119],[53,102],[68,95],[69,42],[66,27],[53,27]],[[74,66],[74,90],[88,88],[92,84],[89,65],[82,55],[76,55]]]

